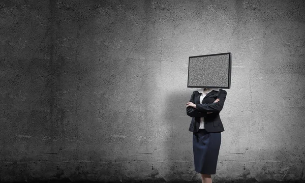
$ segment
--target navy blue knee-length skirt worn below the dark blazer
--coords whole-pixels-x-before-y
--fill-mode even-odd
[[[199,129],[193,133],[195,171],[201,174],[215,174],[221,143],[220,132]]]

